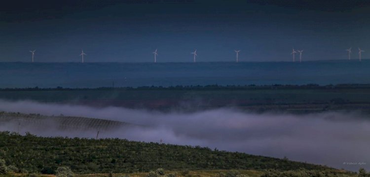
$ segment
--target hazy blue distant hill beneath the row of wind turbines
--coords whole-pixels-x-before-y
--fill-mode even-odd
[[[0,88],[370,83],[370,60],[209,63],[0,63]]]

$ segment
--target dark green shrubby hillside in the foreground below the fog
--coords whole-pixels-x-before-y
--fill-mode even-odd
[[[148,172],[167,170],[220,169],[307,169],[325,166],[255,156],[207,147],[132,142],[120,139],[42,138],[33,135],[0,133],[0,159],[7,165],[34,173],[53,173],[68,166],[78,174]]]

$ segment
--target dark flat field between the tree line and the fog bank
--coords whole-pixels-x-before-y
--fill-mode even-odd
[[[160,111],[236,107],[247,111],[294,113],[370,110],[369,85],[193,86],[97,89],[2,89],[0,99]]]

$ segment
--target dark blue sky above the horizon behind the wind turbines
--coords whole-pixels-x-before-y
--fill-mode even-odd
[[[370,56],[368,0],[10,0],[0,62],[199,62]]]

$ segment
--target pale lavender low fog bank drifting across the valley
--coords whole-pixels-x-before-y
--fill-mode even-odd
[[[43,115],[81,116],[122,121],[123,126],[101,131],[100,138],[208,146],[357,171],[370,170],[370,119],[357,112],[324,112],[305,115],[246,113],[232,108],[184,112],[155,112],[122,107],[93,108],[0,101],[0,111]],[[20,133],[39,136],[95,138],[96,131],[58,130],[58,125],[22,125]],[[16,131],[14,121],[1,121],[0,131]],[[348,163],[365,163],[349,165]]]

